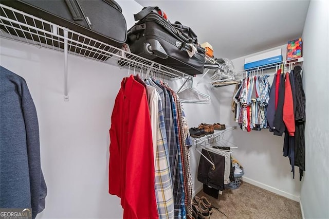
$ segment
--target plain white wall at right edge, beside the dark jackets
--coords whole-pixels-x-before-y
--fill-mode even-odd
[[[301,203],[305,218],[329,218],[329,3],[311,1],[303,31],[306,96],[306,171]]]

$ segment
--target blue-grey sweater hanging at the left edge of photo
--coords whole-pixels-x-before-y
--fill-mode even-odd
[[[0,66],[0,208],[45,208],[39,123],[25,80]]]

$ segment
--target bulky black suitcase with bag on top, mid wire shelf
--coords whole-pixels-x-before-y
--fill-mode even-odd
[[[178,22],[171,24],[159,10],[147,7],[134,15],[139,21],[127,32],[131,52],[188,75],[203,74],[205,49],[198,45],[195,33]],[[192,46],[197,52],[190,57],[187,51]]]

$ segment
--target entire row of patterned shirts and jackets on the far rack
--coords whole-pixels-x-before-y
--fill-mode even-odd
[[[243,130],[268,126],[273,135],[282,136],[285,133],[283,156],[289,157],[294,178],[294,167],[299,167],[300,180],[305,171],[305,94],[301,71],[299,65],[290,72],[278,69],[272,86],[267,81],[268,76],[265,76],[266,79],[264,76],[261,79],[255,77],[254,80],[251,77],[245,78],[233,96],[236,104],[235,120]],[[254,92],[258,96],[256,101],[253,100]],[[253,105],[258,108],[258,114],[254,113]],[[254,121],[262,121],[259,122],[262,125],[258,126]]]

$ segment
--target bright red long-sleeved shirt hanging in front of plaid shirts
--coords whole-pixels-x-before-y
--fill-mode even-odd
[[[108,192],[121,198],[123,218],[158,218],[148,100],[133,76],[121,82],[111,121]]]

